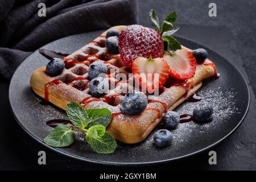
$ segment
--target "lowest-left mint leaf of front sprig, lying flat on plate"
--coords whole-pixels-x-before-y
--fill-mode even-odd
[[[67,147],[74,142],[75,134],[68,125],[58,125],[44,138],[44,143],[52,147]]]

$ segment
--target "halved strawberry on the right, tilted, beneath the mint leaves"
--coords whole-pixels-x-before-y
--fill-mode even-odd
[[[196,73],[196,59],[185,49],[179,49],[173,55],[165,52],[163,59],[170,66],[170,76],[178,80],[188,80]]]

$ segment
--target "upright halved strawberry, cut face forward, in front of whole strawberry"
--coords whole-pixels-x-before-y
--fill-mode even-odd
[[[153,92],[166,82],[169,66],[163,58],[145,58],[137,57],[131,68],[134,80],[142,89]]]

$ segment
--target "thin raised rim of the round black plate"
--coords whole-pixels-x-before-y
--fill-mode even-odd
[[[97,30],[97,31],[104,31],[104,30]],[[91,32],[97,32],[97,31],[91,31]],[[84,32],[84,33],[81,33],[82,34],[86,34],[87,32]],[[69,36],[76,36],[76,35],[80,35],[80,34],[74,34],[74,35],[69,35]],[[64,38],[67,38],[69,36],[65,36]],[[51,146],[48,146],[46,143],[43,142],[43,140],[41,140],[40,138],[38,138],[36,135],[32,134],[30,132],[30,130],[27,129],[26,126],[24,126],[22,124],[22,122],[19,121],[19,119],[16,117],[15,113],[14,113],[14,110],[13,110],[13,105],[12,105],[12,102],[11,102],[11,98],[10,98],[10,92],[11,92],[11,85],[12,85],[12,82],[14,80],[14,75],[16,74],[16,70],[20,67],[20,65],[23,64],[23,61],[26,60],[28,57],[30,57],[33,53],[35,53],[36,51],[38,51],[40,48],[43,48],[45,46],[47,46],[48,44],[52,44],[53,42],[57,42],[59,41],[60,39],[64,39],[64,38],[60,38],[60,39],[57,39],[57,40],[54,40],[53,42],[50,42],[38,49],[36,49],[36,51],[32,52],[30,55],[28,55],[23,61],[22,63],[19,65],[18,68],[16,68],[13,76],[11,77],[11,81],[10,81],[10,85],[9,85],[9,102],[10,102],[10,106],[11,106],[11,113],[14,115],[14,118],[16,120],[16,122],[18,123],[18,125],[20,127],[22,127],[22,129],[24,131],[26,131],[26,133],[28,135],[30,135],[31,138],[35,139],[37,142],[39,142],[40,144],[43,144],[43,146],[49,148],[50,150],[52,151],[55,151],[59,154],[62,154],[62,155],[65,155],[65,156],[68,156],[69,158],[72,158],[72,159],[76,159],[76,160],[80,160],[80,161],[83,161],[83,162],[88,162],[88,163],[93,163],[93,164],[101,164],[101,165],[104,165],[104,166],[149,166],[149,165],[154,165],[154,164],[163,164],[163,163],[168,163],[168,162],[173,162],[175,160],[180,160],[180,159],[185,159],[185,158],[188,158],[190,156],[194,156],[196,154],[200,154],[201,152],[204,152],[206,150],[209,150],[209,148],[212,148],[214,146],[216,146],[217,144],[221,143],[222,141],[224,141],[226,138],[228,138],[231,134],[234,133],[234,131],[236,131],[238,129],[238,127],[241,126],[242,122],[244,121],[247,113],[248,113],[248,110],[249,110],[249,107],[250,107],[250,89],[249,89],[249,85],[247,84],[247,81],[245,79],[245,77],[242,75],[240,69],[238,69],[236,67],[236,65],[234,65],[231,61],[229,61],[228,59],[226,59],[224,56],[222,56],[220,53],[218,53],[217,51],[214,51],[212,48],[209,48],[208,46],[205,46],[204,44],[202,43],[199,43],[195,40],[192,40],[192,39],[189,39],[189,38],[185,38],[184,36],[180,36],[180,35],[176,35],[177,38],[181,38],[181,39],[185,39],[185,40],[188,40],[189,42],[193,42],[193,43],[196,43],[196,44],[200,44],[201,46],[209,49],[210,51],[216,53],[218,56],[220,57],[223,57],[226,61],[228,61],[228,63],[230,65],[232,65],[232,67],[239,73],[239,75],[242,77],[242,80],[245,82],[245,85],[246,85],[246,90],[247,90],[247,94],[248,94],[248,97],[247,97],[247,106],[246,106],[246,110],[245,110],[245,113],[243,114],[243,117],[242,119],[240,120],[240,122],[236,125],[236,127],[234,127],[234,129],[232,131],[230,131],[228,134],[226,134],[224,137],[222,137],[220,140],[218,140],[217,142],[213,143],[213,144],[210,144],[210,146],[208,147],[204,147],[202,148],[201,150],[198,150],[198,151],[195,151],[195,152],[192,152],[190,154],[187,154],[187,155],[183,155],[183,156],[179,156],[179,157],[176,157],[176,158],[171,158],[171,159],[164,159],[164,160],[156,160],[156,161],[152,161],[152,162],[138,162],[138,163],[127,163],[127,162],[106,162],[106,161],[102,161],[102,160],[95,160],[95,159],[88,159],[88,158],[84,158],[84,157],[80,157],[80,156],[77,156],[77,155],[72,155],[72,154],[69,154],[68,152],[64,152],[64,151],[61,151],[59,150],[59,148],[55,148],[55,147],[51,147]],[[100,155],[100,154],[99,154]]]

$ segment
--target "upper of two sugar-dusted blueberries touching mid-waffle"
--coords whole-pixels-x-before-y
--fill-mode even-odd
[[[90,80],[93,78],[98,77],[100,73],[107,73],[108,67],[106,64],[102,63],[101,61],[96,61],[92,64],[90,64],[89,70],[88,70],[88,76]]]

